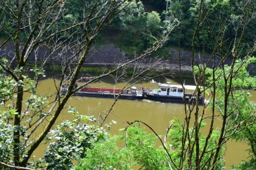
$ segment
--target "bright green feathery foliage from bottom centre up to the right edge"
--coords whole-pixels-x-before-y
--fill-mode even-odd
[[[162,141],[160,136],[148,124],[139,120],[127,122],[128,126],[119,138],[108,137],[96,143],[86,151],[88,157],[80,160],[80,163],[74,169],[131,169],[132,165],[137,165],[141,169],[198,169],[197,166],[201,169],[224,169],[225,143],[230,138],[241,138],[241,140],[250,144],[253,140],[253,134],[248,134],[248,132],[255,132],[255,104],[249,102],[247,89],[244,89],[245,87],[254,87],[256,83],[255,77],[249,77],[246,70],[247,65],[253,61],[255,61],[255,58],[237,60],[234,65],[232,95],[228,97],[226,111],[224,111],[225,87],[223,85],[226,81],[230,83],[230,80],[224,79],[223,71],[231,71],[231,67],[225,65],[224,70],[216,68],[214,75],[212,73],[213,69],[207,68],[205,70],[205,75],[207,75],[205,83],[209,85],[206,91],[207,93],[216,91],[215,93],[218,96],[213,99],[215,102],[210,103],[211,108],[214,109],[214,105],[216,105],[215,107],[220,114],[216,112],[216,115],[209,116],[202,113],[198,120],[198,131],[195,130],[195,122],[191,122],[192,125],[187,128],[186,120],[181,122],[181,120],[174,119],[170,122],[164,141]],[[203,66],[199,66],[200,69],[201,67]],[[196,73],[199,73],[199,70]],[[218,77],[218,79],[214,81],[213,77]],[[214,82],[216,83],[215,88],[212,86]],[[197,106],[187,105],[187,107],[187,110],[192,107],[189,110],[191,112],[193,107]],[[224,135],[221,136],[222,129],[216,128],[214,130],[213,122],[216,121],[216,118],[225,118],[224,112],[227,112],[226,127],[224,128]],[[185,118],[191,120],[187,116]],[[211,118],[210,130],[203,134],[201,129],[209,128],[205,125],[205,120],[208,118]],[[140,128],[141,125],[150,128],[154,134],[147,134]],[[222,138],[221,145],[219,144],[220,138]],[[160,140],[162,147],[155,146],[156,139]],[[117,141],[119,146],[117,146]],[[198,142],[199,148],[197,148],[196,142]],[[123,145],[120,146],[120,143]],[[254,146],[251,145],[251,151],[253,151]],[[217,151],[217,161],[212,165]],[[199,152],[200,159],[198,165],[196,164],[197,152]],[[233,168],[246,167],[247,169],[253,169],[255,167],[254,160],[255,157],[253,156],[249,162],[243,162]]]

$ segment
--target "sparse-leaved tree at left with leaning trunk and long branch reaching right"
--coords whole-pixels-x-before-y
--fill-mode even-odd
[[[1,137],[1,144],[7,151],[6,155],[1,155],[4,162],[0,165],[3,167],[28,169],[25,167],[30,166],[34,151],[46,139],[71,95],[156,51],[170,33],[169,30],[162,34],[152,48],[133,60],[75,89],[75,81],[94,40],[130,1],[83,1],[78,11],[70,10],[67,6],[72,2],[77,1],[3,0],[0,3],[0,32],[7,36],[0,44],[1,104],[4,108],[1,111],[1,127],[8,128],[4,134],[8,137]],[[179,23],[172,24],[176,26]],[[7,45],[11,46],[11,51]],[[57,91],[53,94],[53,101],[49,101],[49,96],[38,95],[36,91],[38,81],[45,76],[46,62],[51,62],[53,67]],[[59,81],[54,73],[55,62],[60,62],[62,66]],[[67,93],[61,95],[61,87],[67,83]],[[46,125],[42,132],[34,136],[43,124]]]

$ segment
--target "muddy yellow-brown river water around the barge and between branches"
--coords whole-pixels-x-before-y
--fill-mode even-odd
[[[175,80],[168,80],[174,84],[179,84]],[[165,83],[165,82],[160,82]],[[91,85],[91,87],[111,87],[114,86],[117,88],[122,88],[125,83],[118,83],[116,85],[104,82],[98,82]],[[144,82],[137,83],[137,87],[150,87],[157,88],[157,85],[152,83]],[[55,87],[53,83],[53,79],[45,79],[40,81],[38,93],[44,95],[50,95],[55,92]],[[253,97],[251,100],[256,101],[256,92],[253,91]],[[113,104],[114,99],[104,99],[104,98],[94,98],[94,97],[71,97],[69,99],[68,105],[72,105],[75,107],[80,114],[86,114],[97,117],[99,113],[107,111],[110,108],[110,105]],[[208,112],[210,109],[208,108]],[[154,101],[132,101],[119,99],[117,104],[115,105],[113,112],[108,117],[107,123],[115,120],[117,124],[112,124],[110,128],[111,134],[119,134],[120,128],[125,128],[127,124],[124,122],[131,122],[133,120],[141,120],[150,125],[158,134],[164,135],[166,132],[166,128],[168,128],[170,120],[173,118],[180,118],[184,120],[184,105],[179,103],[161,103]],[[62,122],[63,120],[71,120],[73,116],[63,111],[57,123]],[[207,124],[207,122],[206,122]],[[220,122],[216,123],[216,127],[220,127]],[[205,129],[207,130],[207,126]],[[150,132],[150,130],[148,130]],[[46,145],[42,144],[36,150],[36,158],[43,157]],[[235,163],[240,163],[242,160],[247,160],[248,152],[246,151],[249,148],[247,144],[243,142],[236,142],[234,140],[230,140],[227,144],[226,155],[224,159],[226,160],[226,167],[230,169],[230,165]]]

